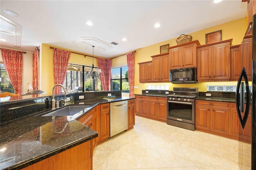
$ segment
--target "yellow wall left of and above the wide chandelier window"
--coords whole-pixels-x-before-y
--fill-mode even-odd
[[[41,78],[42,89],[41,90],[45,91],[46,93],[52,93],[52,87],[54,86],[53,49],[50,49],[50,47],[65,49],[62,47],[56,47],[56,46],[42,43],[42,46],[40,49],[42,51],[42,78]],[[69,49],[65,49],[65,50],[69,50]],[[77,51],[73,51],[73,52],[77,52]],[[77,52],[77,53],[80,53],[80,52]],[[89,54],[84,53],[84,55],[89,55]],[[71,53],[69,63],[92,66],[92,57],[89,57],[89,56],[84,57],[84,55]],[[94,66],[98,67],[98,61],[96,58],[94,58]]]

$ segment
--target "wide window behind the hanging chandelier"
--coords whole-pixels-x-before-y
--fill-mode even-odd
[[[64,87],[66,87],[66,89],[70,89],[71,91],[83,91],[83,89],[84,91],[101,91],[100,77],[95,77],[94,79],[92,79],[92,77],[87,77],[83,71],[86,68],[92,69],[92,67],[89,66],[69,64],[66,73],[66,79],[63,83]],[[84,83],[82,83],[83,78]]]

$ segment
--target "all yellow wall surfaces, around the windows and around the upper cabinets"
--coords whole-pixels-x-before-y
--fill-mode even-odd
[[[204,30],[200,30],[193,33],[185,33],[192,36],[192,41],[198,40],[201,45],[205,44],[205,34],[209,32],[214,32],[217,30],[222,30],[222,40],[233,39],[232,45],[237,45],[242,42],[244,37],[244,33],[247,29],[247,18],[241,18],[238,20],[234,20],[232,22],[228,22],[225,24],[221,24],[218,26],[214,26],[211,28],[207,28]],[[177,35],[177,38],[180,35]],[[176,38],[167,40],[161,43],[157,43],[154,45],[150,45],[147,47],[143,47],[140,49],[136,49],[135,53],[135,84],[134,86],[138,86],[138,89],[134,89],[134,94],[141,93],[142,90],[146,89],[146,85],[168,85],[169,90],[172,91],[173,87],[198,87],[199,91],[206,91],[207,85],[236,85],[235,81],[231,82],[204,82],[197,84],[172,84],[172,83],[139,83],[139,65],[138,63],[144,61],[152,61],[150,56],[160,54],[160,46],[169,44],[170,47],[177,45]],[[61,47],[56,47],[61,48]],[[63,48],[61,48],[63,49]],[[50,49],[50,45],[42,44],[42,91],[46,91],[47,93],[51,93],[51,89],[54,86],[54,77],[53,77],[53,50]],[[66,49],[68,50],[68,49]],[[74,51],[76,52],[76,51]],[[80,64],[80,65],[92,65],[92,57],[85,57],[84,55],[78,55],[71,53],[69,63]],[[97,66],[98,63],[96,59],[94,59],[94,65]],[[112,59],[112,67],[118,67],[126,65],[126,55],[121,57],[117,57]]]

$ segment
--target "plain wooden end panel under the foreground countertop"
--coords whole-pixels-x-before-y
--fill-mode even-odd
[[[91,141],[60,152],[22,170],[92,170]]]

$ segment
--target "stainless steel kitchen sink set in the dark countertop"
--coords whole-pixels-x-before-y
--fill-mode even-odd
[[[52,111],[51,113],[48,113],[43,116],[73,116],[76,113],[79,113],[80,111],[83,111],[84,109],[89,108],[90,105],[80,105],[80,106],[67,106],[62,109],[58,109],[56,111]]]

